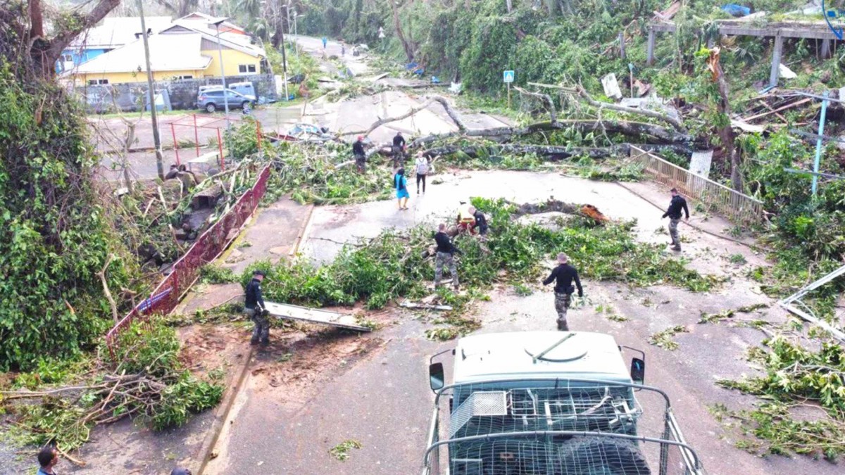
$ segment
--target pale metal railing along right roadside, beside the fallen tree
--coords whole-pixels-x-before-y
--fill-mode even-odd
[[[678,188],[681,194],[701,201],[735,223],[752,225],[763,217],[763,202],[759,199],[696,175],[635,145],[630,146],[630,159],[641,163],[642,171],[657,183]]]

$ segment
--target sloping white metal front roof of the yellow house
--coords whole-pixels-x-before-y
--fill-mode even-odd
[[[153,71],[205,69],[211,63],[211,57],[200,54],[202,35],[152,35],[149,41],[150,68]],[[82,63],[66,74],[128,73],[146,70],[144,40],[136,40]]]

